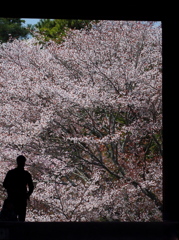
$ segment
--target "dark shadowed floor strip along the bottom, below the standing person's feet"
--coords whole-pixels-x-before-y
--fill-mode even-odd
[[[178,240],[178,223],[0,223],[0,239]]]

